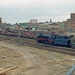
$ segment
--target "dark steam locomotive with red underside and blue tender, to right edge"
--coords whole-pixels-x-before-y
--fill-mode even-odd
[[[75,37],[73,35],[40,34],[37,36],[37,42],[56,46],[75,47]]]

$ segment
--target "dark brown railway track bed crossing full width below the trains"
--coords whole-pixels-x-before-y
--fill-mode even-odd
[[[63,54],[69,54],[69,55],[75,56],[75,49],[73,49],[73,48],[66,48],[66,47],[40,44],[40,43],[37,43],[33,39],[20,38],[19,42],[18,42],[17,37],[0,35],[0,40],[8,41],[8,42],[11,42],[11,43],[16,43],[16,44],[19,43],[20,45],[28,45],[28,46],[36,47],[36,48],[39,48],[39,49],[44,49],[44,50],[48,50],[48,51],[55,51],[55,52],[60,52],[60,53],[63,53]]]

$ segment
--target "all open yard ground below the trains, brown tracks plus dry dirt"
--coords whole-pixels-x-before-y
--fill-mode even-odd
[[[0,35],[0,75],[66,75],[75,64],[74,50]]]

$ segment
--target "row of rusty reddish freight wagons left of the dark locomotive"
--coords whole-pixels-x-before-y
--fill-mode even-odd
[[[1,35],[6,35],[6,36],[14,36],[14,37],[18,37],[18,35],[20,37],[23,37],[23,38],[29,38],[29,39],[36,39],[36,34],[35,33],[30,33],[30,32],[20,32],[18,33],[18,31],[0,31],[0,34]]]

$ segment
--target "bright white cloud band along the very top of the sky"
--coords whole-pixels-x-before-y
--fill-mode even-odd
[[[0,6],[72,5],[75,0],[0,0]]]

